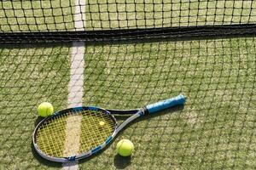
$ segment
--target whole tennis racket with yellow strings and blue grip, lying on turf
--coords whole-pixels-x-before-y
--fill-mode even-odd
[[[38,123],[32,143],[38,154],[49,161],[76,161],[106,147],[128,123],[175,105],[183,105],[183,94],[131,111],[75,107],[55,112]],[[132,114],[119,124],[113,114]]]

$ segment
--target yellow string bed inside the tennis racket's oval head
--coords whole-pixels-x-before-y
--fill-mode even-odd
[[[69,126],[67,122],[70,123]],[[103,125],[100,122],[104,122]],[[79,126],[75,126],[78,123]],[[38,148],[49,156],[80,155],[102,144],[113,133],[114,127],[115,121],[112,116],[102,111],[69,112],[44,122],[38,129],[37,144]],[[79,137],[78,146],[73,146],[75,144],[72,142],[66,144],[67,141],[75,139],[74,137]]]

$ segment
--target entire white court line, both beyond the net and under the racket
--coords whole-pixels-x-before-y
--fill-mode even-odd
[[[75,31],[84,31],[85,28],[85,0],[76,0],[74,27]],[[81,106],[83,103],[84,92],[84,42],[73,42],[71,52],[71,71],[70,82],[68,84],[68,107]],[[79,151],[79,131],[81,117],[72,116],[67,119],[67,133],[65,141],[64,155]],[[73,146],[75,150],[69,150],[69,146]],[[78,170],[77,161],[62,164],[62,170]]]

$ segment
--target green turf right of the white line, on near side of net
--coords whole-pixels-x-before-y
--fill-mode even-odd
[[[89,46],[84,104],[132,109],[187,96],[183,110],[131,123],[81,169],[255,168],[255,38]],[[131,158],[116,156],[131,139]]]

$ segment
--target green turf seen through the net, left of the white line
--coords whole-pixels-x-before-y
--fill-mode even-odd
[[[3,1],[0,31],[71,31],[73,14],[73,1]]]

